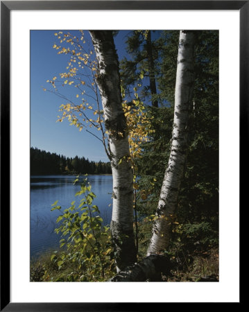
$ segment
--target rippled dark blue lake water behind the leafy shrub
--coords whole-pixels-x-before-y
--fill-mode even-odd
[[[81,177],[83,180],[85,177]],[[49,249],[58,250],[60,234],[55,234],[56,218],[60,212],[51,211],[51,205],[58,200],[63,209],[71,202],[80,202],[80,184],[73,184],[75,175],[33,175],[31,176],[31,259]],[[93,205],[101,211],[104,225],[110,224],[112,218],[112,175],[88,175],[96,194]],[[77,207],[77,206],[76,206]]]

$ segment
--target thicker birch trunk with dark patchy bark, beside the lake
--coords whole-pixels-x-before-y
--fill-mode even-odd
[[[133,233],[133,175],[128,132],[123,114],[119,61],[112,31],[90,31],[98,60],[98,89],[101,93],[105,128],[113,177],[111,232],[116,252],[117,271],[136,261]]]

